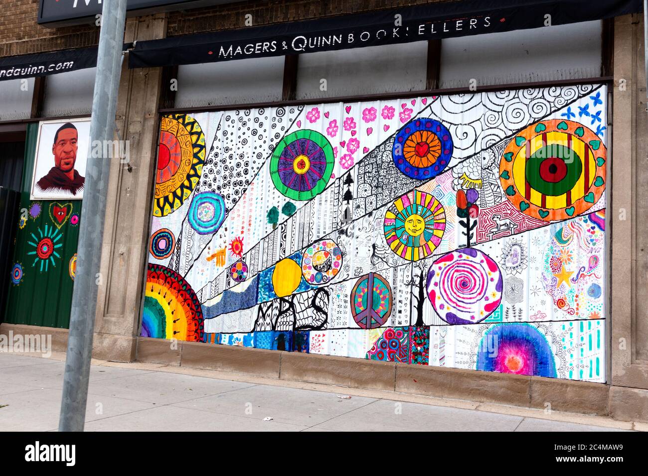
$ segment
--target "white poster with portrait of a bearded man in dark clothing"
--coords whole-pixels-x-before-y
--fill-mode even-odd
[[[89,119],[39,124],[31,199],[83,198],[89,132]]]

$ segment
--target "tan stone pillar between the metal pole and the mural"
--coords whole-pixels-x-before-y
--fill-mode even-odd
[[[124,41],[156,40],[167,31],[166,14],[130,18]],[[122,65],[117,130],[128,141],[130,161],[112,159],[93,357],[133,361],[148,256],[152,186],[157,150],[161,68]]]

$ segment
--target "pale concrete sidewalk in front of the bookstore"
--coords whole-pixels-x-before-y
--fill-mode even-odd
[[[49,359],[0,354],[0,431],[57,429],[64,358],[63,354],[54,354]],[[279,383],[283,386],[277,385]],[[397,402],[393,398],[407,401]],[[264,421],[267,417],[272,420]],[[86,412],[86,431],[631,429],[645,431],[648,424],[558,412],[545,414],[541,410],[505,405],[332,385],[272,381],[184,367],[104,361],[93,361]]]

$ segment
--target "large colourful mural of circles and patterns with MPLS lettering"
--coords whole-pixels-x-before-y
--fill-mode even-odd
[[[605,381],[606,98],[164,117],[141,335]]]

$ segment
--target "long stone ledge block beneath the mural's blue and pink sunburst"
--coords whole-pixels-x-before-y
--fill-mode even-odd
[[[396,364],[396,391],[528,407],[531,378],[464,368]]]

